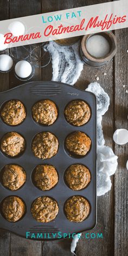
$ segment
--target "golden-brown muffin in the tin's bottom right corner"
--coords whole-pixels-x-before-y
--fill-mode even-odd
[[[72,196],[65,203],[65,214],[69,221],[84,221],[88,216],[89,211],[89,203],[82,196]]]

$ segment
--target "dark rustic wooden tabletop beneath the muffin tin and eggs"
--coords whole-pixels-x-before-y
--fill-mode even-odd
[[[84,5],[104,3],[103,0],[1,0],[0,19],[16,18],[35,15],[43,12],[81,7]],[[118,169],[111,177],[111,191],[98,197],[98,222],[89,233],[103,233],[103,239],[80,239],[76,248],[77,256],[125,256],[128,252],[127,241],[127,145],[118,146],[113,143],[113,132],[127,126],[127,29],[114,31],[117,37],[118,50],[114,59],[108,65],[100,68],[90,68],[84,65],[76,87],[85,89],[90,82],[99,76],[99,83],[110,96],[110,107],[103,117],[103,130],[106,145],[111,146],[118,155]],[[49,72],[50,70],[50,72]],[[106,75],[104,75],[106,73]],[[34,81],[51,80],[52,65],[42,70],[36,69]],[[13,72],[0,73],[1,91],[15,87],[18,81]],[[125,86],[125,88],[123,87]],[[0,220],[1,221],[1,220]],[[0,256],[70,256],[71,240],[60,241],[31,241],[20,238],[7,231],[0,231]]]

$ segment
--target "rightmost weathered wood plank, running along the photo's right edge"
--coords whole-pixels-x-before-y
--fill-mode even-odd
[[[118,50],[115,59],[115,108],[114,130],[124,128],[128,130],[127,109],[128,109],[128,29],[115,31]],[[125,88],[123,87],[125,85]],[[114,231],[114,255],[127,255],[128,252],[128,179],[126,161],[128,159],[127,145],[114,145],[116,155],[118,155],[118,169],[114,175],[114,200],[115,200],[115,231]]]

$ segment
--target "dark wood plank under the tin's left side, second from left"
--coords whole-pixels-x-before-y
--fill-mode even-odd
[[[12,0],[9,2],[10,18],[35,15],[35,14],[39,14],[40,11],[41,11],[40,0],[37,0],[37,1]],[[36,69],[34,80],[40,80],[40,79],[41,79],[40,69]],[[10,74],[10,88],[23,83],[24,82],[18,81],[18,79],[15,78],[14,72],[12,71]],[[40,256],[42,252],[42,243],[40,241],[23,239],[14,234],[11,234],[10,247],[11,247],[11,256],[18,256],[18,255]]]

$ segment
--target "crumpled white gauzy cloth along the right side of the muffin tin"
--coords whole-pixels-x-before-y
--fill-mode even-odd
[[[105,146],[102,128],[102,116],[108,110],[110,98],[98,82],[88,85],[86,91],[92,92],[97,98],[97,196],[104,195],[111,189],[111,178],[117,169],[117,156],[113,150]]]

